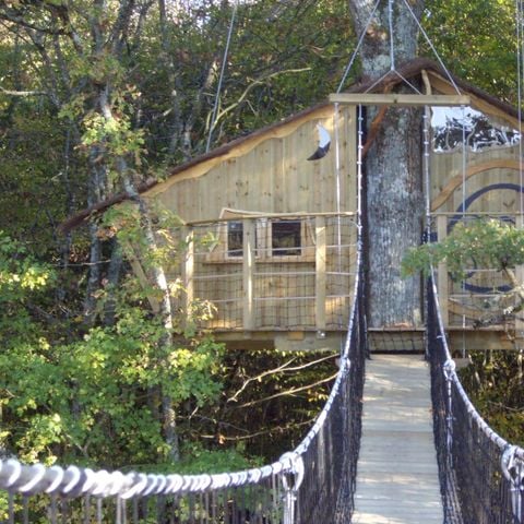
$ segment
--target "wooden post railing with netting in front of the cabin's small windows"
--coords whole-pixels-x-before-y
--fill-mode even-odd
[[[356,271],[353,213],[243,215],[189,224],[184,236],[183,307],[211,302],[215,312],[204,327],[346,329]]]

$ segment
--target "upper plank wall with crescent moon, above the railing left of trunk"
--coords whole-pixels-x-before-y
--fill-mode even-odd
[[[324,158],[308,162],[318,145],[317,123],[330,132],[331,148]],[[187,222],[219,218],[224,207],[264,213],[335,212],[335,124],[341,211],[355,211],[355,108],[348,106],[340,107],[337,116],[334,106],[323,107],[299,126],[289,127],[288,134],[271,132],[251,148],[248,141],[237,153],[216,158],[205,172],[199,166],[190,168],[160,184],[154,194]]]

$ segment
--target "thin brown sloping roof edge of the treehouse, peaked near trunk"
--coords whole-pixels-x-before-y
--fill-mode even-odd
[[[434,86],[438,91],[446,91],[445,94],[456,94],[455,88],[452,82],[449,80],[449,73],[442,69],[433,60],[427,58],[416,58],[408,62],[405,62],[401,67],[397,68],[396,73],[392,71],[391,74],[385,75],[380,82],[377,82],[374,79],[366,79],[362,78],[359,82],[355,83],[350,87],[346,90],[347,93],[384,93],[388,92],[391,87],[397,84],[402,84],[402,78],[409,80],[422,74],[422,71],[426,71],[429,75],[429,80],[432,86]],[[507,117],[510,120],[516,120],[519,118],[519,111],[511,105],[500,100],[499,98],[486,93],[484,90],[460,79],[458,76],[451,75],[455,85],[464,92],[472,96],[472,105],[480,105],[491,109],[491,112],[499,115],[500,117]],[[475,104],[475,102],[477,104]],[[307,119],[308,116],[313,115],[315,112],[321,112],[322,109],[332,106],[333,103],[331,102],[322,102],[320,104],[313,105],[307,109],[303,109],[299,112],[296,112],[278,122],[272,123],[270,126],[265,126],[257,131],[253,131],[249,134],[240,136],[227,144],[222,145],[215,150],[210,151],[209,153],[199,155],[189,162],[175,166],[170,169],[168,176],[164,180],[154,180],[150,179],[145,182],[142,182],[136,188],[139,193],[147,194],[150,192],[158,193],[163,191],[164,186],[170,186],[174,181],[177,180],[183,172],[188,171],[189,169],[198,166],[199,164],[206,163],[209,160],[219,158],[230,154],[234,150],[242,146],[243,144],[250,141],[260,141],[263,139],[264,135],[272,135],[276,130],[282,127],[285,127],[289,123],[293,123],[298,120]],[[489,112],[489,111],[488,111]],[[61,229],[63,231],[69,231],[79,225],[81,225],[84,221],[90,218],[93,215],[103,213],[108,207],[115,205],[116,203],[122,202],[124,200],[129,200],[130,196],[126,192],[118,193],[115,195],[109,196],[108,199],[99,202],[88,209],[85,209],[78,213],[76,215],[67,219],[62,225]]]

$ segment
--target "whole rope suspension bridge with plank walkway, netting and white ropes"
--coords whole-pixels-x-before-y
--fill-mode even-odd
[[[391,11],[391,0],[389,5]],[[357,51],[358,46],[345,76]],[[389,73],[398,75],[393,38],[391,62]],[[359,129],[359,186],[361,134]],[[428,177],[427,139],[425,145]],[[3,522],[523,523],[524,450],[497,434],[465,393],[448,346],[434,274],[425,294],[424,357],[368,359],[360,201],[358,262],[340,370],[322,412],[295,450],[262,467],[217,475],[122,473],[0,460]],[[429,202],[427,207],[429,218]],[[429,226],[427,233],[429,239]]]

